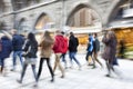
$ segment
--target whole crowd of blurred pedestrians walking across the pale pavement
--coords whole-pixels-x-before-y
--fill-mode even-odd
[[[102,42],[104,43],[104,52],[102,58],[105,60],[108,75],[111,76],[111,70],[115,72],[113,68],[114,65],[119,65],[116,60],[116,37],[113,31],[109,31],[104,34]],[[17,57],[19,57],[22,71],[20,79],[17,81],[22,83],[25,70],[28,65],[31,65],[33,76],[35,79],[35,85],[38,86],[39,78],[42,72],[43,62],[47,61],[50,75],[51,82],[54,81],[54,72],[57,67],[59,67],[61,71],[61,78],[65,78],[65,69],[68,69],[68,61],[65,59],[65,55],[69,53],[70,63],[73,68],[73,61],[78,65],[79,70],[81,70],[81,63],[76,58],[79,47],[79,39],[74,36],[73,32],[70,32],[69,36],[61,31],[57,30],[55,36],[51,36],[49,31],[44,31],[41,42],[38,43],[34,33],[29,32],[27,37],[18,34],[17,30],[12,30],[12,39],[7,36],[1,36],[0,38],[0,72],[3,73],[4,70],[4,59],[9,58],[12,55],[12,69],[11,71],[16,71],[17,66]],[[85,50],[85,49],[84,49]],[[39,70],[37,70],[37,52],[40,51],[40,61],[39,61]],[[86,60],[89,66],[92,66],[92,69],[96,68],[95,62],[98,62],[102,68],[103,65],[98,59],[98,55],[100,51],[100,41],[98,39],[98,33],[89,33],[88,44],[86,44],[86,56],[84,60]],[[11,53],[12,52],[12,53]],[[54,53],[54,66],[51,66],[51,55]],[[89,58],[91,58],[92,63],[90,63]],[[62,60],[61,60],[62,59]],[[64,67],[62,62],[64,62]]]

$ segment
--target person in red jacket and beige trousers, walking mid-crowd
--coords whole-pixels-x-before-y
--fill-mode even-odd
[[[53,71],[55,71],[57,67],[59,67],[59,69],[62,72],[61,78],[64,78],[64,69],[60,63],[60,58],[61,58],[61,55],[63,53],[63,48],[64,48],[64,38],[61,34],[60,30],[57,30],[55,33],[57,33],[57,36],[54,37],[54,44],[53,44],[55,62],[54,62]]]

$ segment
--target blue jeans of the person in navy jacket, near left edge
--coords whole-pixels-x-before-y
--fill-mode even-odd
[[[17,65],[17,56],[20,58],[21,66],[23,65],[22,51],[13,51],[13,69]]]

